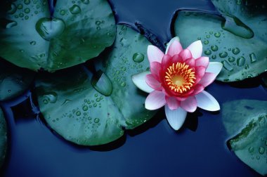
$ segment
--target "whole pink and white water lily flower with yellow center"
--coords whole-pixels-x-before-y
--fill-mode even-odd
[[[204,88],[216,79],[223,65],[201,55],[201,41],[183,49],[178,37],[174,37],[165,54],[156,46],[148,46],[150,72],[132,76],[139,89],[150,93],[145,108],[157,110],[164,106],[167,120],[175,130],[181,128],[187,112],[194,112],[197,107],[220,110],[219,103]]]

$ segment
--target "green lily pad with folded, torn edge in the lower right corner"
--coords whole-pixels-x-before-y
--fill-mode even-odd
[[[228,144],[242,162],[267,174],[267,101],[235,100],[223,104]]]

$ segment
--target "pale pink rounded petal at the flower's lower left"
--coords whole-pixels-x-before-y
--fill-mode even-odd
[[[145,108],[148,110],[157,110],[165,104],[165,94],[162,91],[152,91],[145,99]]]

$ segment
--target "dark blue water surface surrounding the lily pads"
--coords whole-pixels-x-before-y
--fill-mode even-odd
[[[204,0],[113,0],[111,4],[117,22],[132,25],[138,22],[162,43],[171,38],[171,18],[178,8],[215,12],[212,4]],[[267,98],[259,78],[238,84],[216,81],[208,91],[220,104],[237,99]],[[115,143],[81,147],[48,129],[35,114],[38,108],[31,91],[1,103],[1,107],[10,131],[8,157],[0,176],[259,176],[228,150],[229,137],[221,112],[197,110],[188,116],[178,132],[170,128],[164,114],[159,112],[154,119],[127,132]]]

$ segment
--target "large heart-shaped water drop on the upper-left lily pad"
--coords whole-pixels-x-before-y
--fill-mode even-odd
[[[35,28],[43,39],[49,41],[63,33],[65,23],[59,18],[53,18],[52,20],[41,18],[37,21]]]

